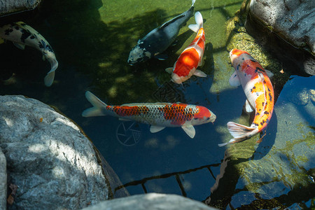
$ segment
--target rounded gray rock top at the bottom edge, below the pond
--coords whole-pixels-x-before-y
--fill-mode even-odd
[[[180,195],[166,195],[158,193],[149,193],[145,195],[133,195],[130,197],[123,197],[106,202],[100,202],[92,207],[87,207],[84,210],[158,210],[158,209],[204,209],[211,210],[214,208],[208,207],[202,202],[190,200]]]

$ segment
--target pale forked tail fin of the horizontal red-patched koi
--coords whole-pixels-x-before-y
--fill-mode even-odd
[[[87,101],[93,105],[93,107],[85,109],[82,113],[83,117],[106,116],[103,110],[106,109],[107,104],[102,102],[90,91],[85,92],[85,97]]]

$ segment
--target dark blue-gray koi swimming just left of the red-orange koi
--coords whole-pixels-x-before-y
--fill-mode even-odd
[[[160,27],[146,34],[144,38],[139,39],[137,45],[130,51],[128,64],[134,65],[139,62],[145,62],[153,57],[165,59],[160,53],[164,52],[175,41],[176,36],[179,35],[179,29],[186,25],[186,22],[193,15],[195,1],[192,1],[192,6],[189,10],[165,22]]]

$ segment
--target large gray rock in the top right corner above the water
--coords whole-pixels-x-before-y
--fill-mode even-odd
[[[251,0],[249,17],[246,29],[264,37],[283,68],[315,75],[315,1]]]

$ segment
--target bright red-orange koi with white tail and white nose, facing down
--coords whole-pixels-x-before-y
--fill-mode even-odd
[[[195,13],[195,25],[188,27],[197,33],[194,41],[181,52],[173,68],[167,68],[165,71],[172,73],[172,81],[181,84],[191,76],[206,77],[207,74],[197,70],[197,66],[202,65],[204,56],[204,45],[206,38],[204,36],[203,20],[200,12]]]

